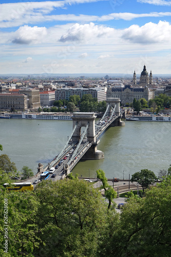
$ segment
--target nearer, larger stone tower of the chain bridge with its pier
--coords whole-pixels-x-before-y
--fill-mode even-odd
[[[102,159],[104,158],[104,153],[102,151],[97,150],[97,138],[95,132],[95,116],[94,113],[73,113],[72,121],[73,121],[73,128],[75,125],[75,131],[72,135],[72,142],[79,141],[81,138],[81,128],[87,127],[87,141],[91,142],[92,145],[88,149],[88,151],[84,154],[82,159]]]

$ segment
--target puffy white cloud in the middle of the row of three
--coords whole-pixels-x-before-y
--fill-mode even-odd
[[[103,25],[94,25],[94,23],[80,25],[78,23],[71,26],[67,33],[61,36],[61,42],[87,42],[92,38],[101,38],[110,36],[115,30]]]

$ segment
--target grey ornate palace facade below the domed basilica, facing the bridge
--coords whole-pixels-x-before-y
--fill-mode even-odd
[[[120,98],[121,103],[125,105],[126,103],[132,103],[134,98],[136,100],[145,98],[149,101],[149,99],[154,98],[154,91],[149,90],[148,87],[132,87],[130,85],[120,88],[108,87],[107,98]]]

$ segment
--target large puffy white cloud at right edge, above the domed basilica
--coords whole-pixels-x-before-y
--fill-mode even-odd
[[[167,44],[171,42],[171,25],[162,21],[158,24],[149,22],[141,27],[132,25],[123,30],[122,38],[139,44]]]

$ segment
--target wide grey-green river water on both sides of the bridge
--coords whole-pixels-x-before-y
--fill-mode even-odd
[[[72,132],[72,121],[0,119],[1,154],[15,162],[17,170],[28,166],[37,172],[62,150]],[[171,122],[125,121],[123,127],[109,127],[100,138],[102,160],[80,161],[72,173],[94,177],[96,170],[106,177],[128,178],[142,169],[156,175],[171,163]]]

